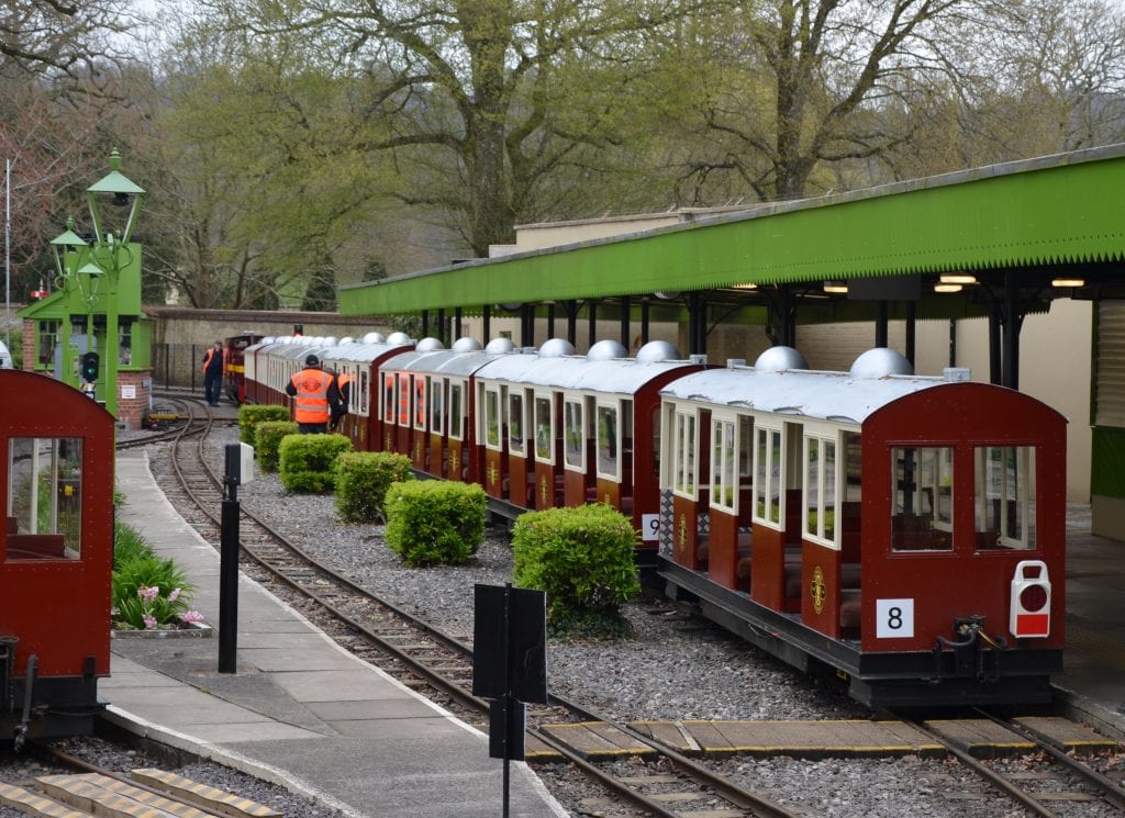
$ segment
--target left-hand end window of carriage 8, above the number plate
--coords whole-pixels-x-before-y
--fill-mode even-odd
[[[953,551],[953,448],[891,449],[891,551]]]

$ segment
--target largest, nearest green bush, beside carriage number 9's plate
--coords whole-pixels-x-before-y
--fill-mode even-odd
[[[512,534],[513,582],[547,593],[556,628],[616,618],[640,591],[632,521],[602,503],[530,511]]]

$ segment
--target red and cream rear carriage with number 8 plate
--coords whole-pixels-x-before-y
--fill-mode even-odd
[[[964,370],[888,374],[909,372],[888,349],[850,373],[786,349],[663,392],[669,588],[867,703],[1048,701],[1064,418]]]

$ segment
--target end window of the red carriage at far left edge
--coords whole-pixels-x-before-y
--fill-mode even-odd
[[[82,552],[82,439],[15,437],[8,448],[7,560]]]

